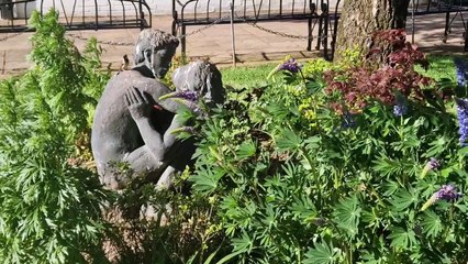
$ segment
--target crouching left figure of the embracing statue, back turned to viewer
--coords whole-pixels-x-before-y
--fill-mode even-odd
[[[141,32],[130,70],[115,75],[96,108],[91,147],[101,183],[111,189],[127,184],[110,163],[127,162],[134,175],[157,180],[165,155],[176,147],[168,132],[180,124],[174,119],[178,105],[157,102],[170,92],[158,78],[168,72],[179,41],[157,30]]]

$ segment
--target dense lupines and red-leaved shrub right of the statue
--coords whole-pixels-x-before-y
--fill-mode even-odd
[[[288,58],[270,86],[231,91],[199,127],[189,180],[231,244],[211,261],[468,261],[464,101],[414,70],[424,56],[401,31],[380,35],[398,42],[381,68],[323,78]]]

